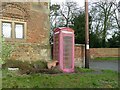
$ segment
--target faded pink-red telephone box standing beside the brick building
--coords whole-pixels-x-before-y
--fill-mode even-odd
[[[53,40],[53,59],[58,60],[60,70],[74,72],[74,30],[56,28]]]

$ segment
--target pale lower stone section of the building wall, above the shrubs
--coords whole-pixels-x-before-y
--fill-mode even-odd
[[[12,60],[22,61],[47,61],[50,60],[50,47],[48,45],[19,43],[13,44],[14,50],[11,53]]]

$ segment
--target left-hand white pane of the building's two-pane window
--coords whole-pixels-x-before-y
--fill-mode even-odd
[[[2,23],[2,35],[5,38],[11,38],[12,25],[8,22]]]

